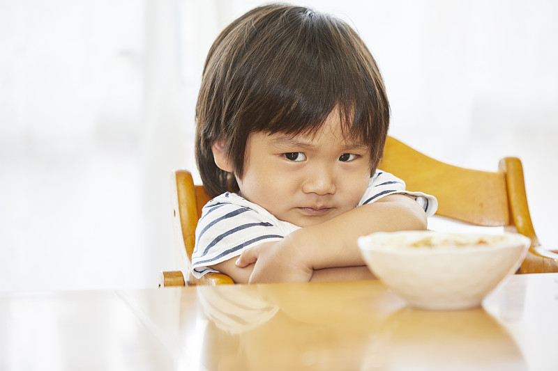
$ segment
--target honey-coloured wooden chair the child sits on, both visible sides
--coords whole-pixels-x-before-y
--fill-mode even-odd
[[[521,273],[558,271],[558,254],[541,247],[536,237],[523,180],[520,159],[505,157],[498,171],[478,171],[437,161],[388,137],[378,168],[400,177],[409,191],[423,191],[438,199],[439,216],[473,226],[503,226],[531,239]],[[211,196],[194,185],[186,170],[174,173],[174,225],[180,242],[177,253],[182,271],[163,272],[160,285],[220,285],[233,283],[225,274],[206,274],[197,280],[190,273],[197,219]]]

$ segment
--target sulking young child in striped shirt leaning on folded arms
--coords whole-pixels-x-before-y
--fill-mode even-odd
[[[199,173],[216,196],[196,230],[197,277],[372,278],[357,237],[425,229],[437,207],[377,171],[384,83],[359,35],[329,15],[271,4],[232,22],[207,56],[196,119]]]

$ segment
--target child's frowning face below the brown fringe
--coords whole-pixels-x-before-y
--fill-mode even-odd
[[[345,140],[337,110],[315,136],[248,137],[244,198],[282,221],[314,226],[353,209],[370,179],[370,148]]]

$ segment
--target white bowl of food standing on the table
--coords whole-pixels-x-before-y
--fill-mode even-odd
[[[481,306],[517,271],[531,241],[516,233],[377,232],[358,241],[373,274],[411,306],[454,310]]]

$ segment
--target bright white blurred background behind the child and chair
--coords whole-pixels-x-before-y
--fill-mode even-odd
[[[0,291],[156,287],[170,179],[195,171],[204,58],[261,1],[0,1]],[[558,2],[293,1],[345,19],[384,76],[392,136],[495,171],[520,157],[558,248]]]

